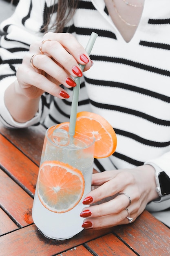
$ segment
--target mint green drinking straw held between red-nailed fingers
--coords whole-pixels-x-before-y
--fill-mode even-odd
[[[93,45],[95,43],[95,40],[97,38],[97,34],[92,32],[91,37],[88,40],[88,43],[86,45],[86,52],[88,55],[90,55],[91,50],[93,48]],[[82,72],[84,70],[85,65],[79,64],[79,66],[82,69]],[[69,135],[70,137],[73,137],[75,135],[75,122],[76,122],[76,117],[77,117],[77,107],[78,107],[78,101],[79,101],[79,88],[80,88],[80,82],[81,82],[81,77],[75,77],[75,83],[76,86],[73,88],[73,99],[71,103],[71,115],[70,115],[70,125],[69,125]]]

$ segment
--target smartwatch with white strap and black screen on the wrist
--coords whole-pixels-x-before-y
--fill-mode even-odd
[[[162,202],[170,199],[170,177],[164,172],[159,166],[152,162],[146,162],[146,164],[151,165],[155,168],[155,181],[156,181],[156,191],[159,195],[158,200],[154,200],[153,202]]]

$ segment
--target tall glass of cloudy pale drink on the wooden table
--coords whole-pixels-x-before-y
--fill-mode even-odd
[[[48,204],[51,204],[50,199],[44,206],[42,199],[38,194],[38,188],[40,187],[39,171],[33,202],[32,217],[35,225],[42,234],[44,234],[44,236],[62,240],[71,238],[82,231],[83,218],[80,217],[79,214],[84,207],[82,204],[84,196],[91,191],[93,153],[94,138],[81,135],[74,139],[70,139],[68,132],[62,129],[56,129],[55,126],[52,126],[46,131],[40,166],[46,162],[53,162],[54,166],[55,163],[68,164],[69,166],[81,171],[85,186],[84,192],[82,192],[82,198],[75,207],[66,212],[57,213],[52,211],[50,206],[48,207]],[[46,174],[44,173],[44,175]],[[46,177],[46,182],[48,183],[48,175]],[[58,189],[58,187],[53,187],[53,190],[54,189]]]

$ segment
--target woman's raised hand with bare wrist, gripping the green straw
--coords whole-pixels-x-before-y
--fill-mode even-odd
[[[11,116],[24,123],[34,117],[44,92],[60,99],[69,98],[60,87],[74,87],[74,77],[82,76],[78,64],[92,66],[85,49],[68,33],[47,33],[42,41],[31,44],[17,70],[17,80],[4,94],[4,102]]]

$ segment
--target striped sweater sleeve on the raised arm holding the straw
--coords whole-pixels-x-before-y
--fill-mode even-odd
[[[16,71],[22,58],[29,51],[31,43],[42,40],[40,28],[43,24],[45,0],[20,0],[13,15],[0,24],[0,120],[9,128],[22,128],[40,121],[42,101],[39,111],[30,121],[20,124],[13,120],[4,104],[4,92],[16,79]]]

